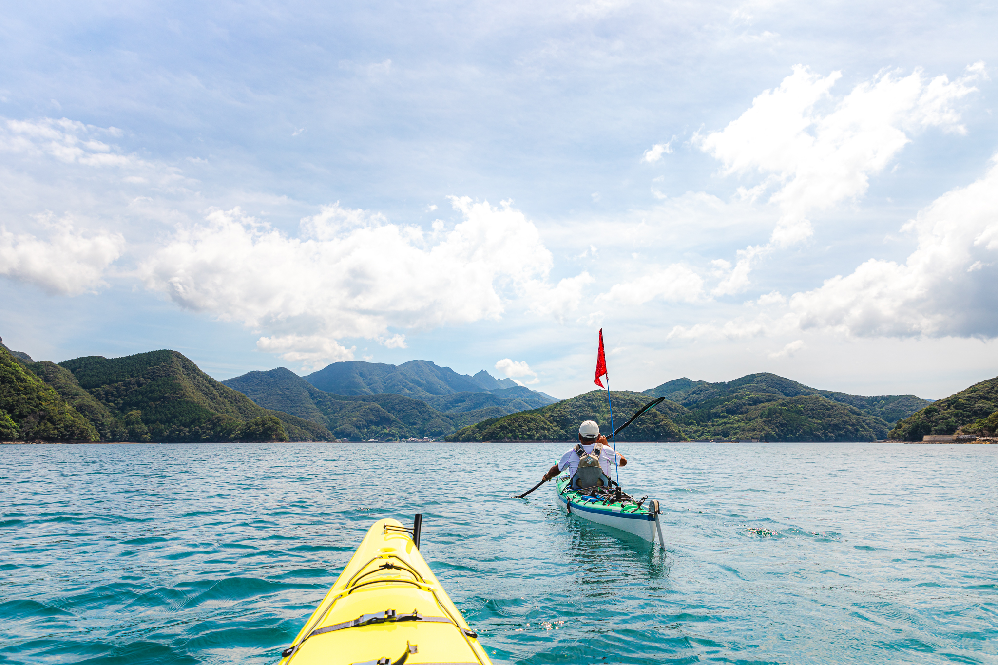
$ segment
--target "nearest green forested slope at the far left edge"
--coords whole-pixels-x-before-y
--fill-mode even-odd
[[[28,371],[24,360],[12,355],[0,340],[0,441],[99,439],[94,426]]]

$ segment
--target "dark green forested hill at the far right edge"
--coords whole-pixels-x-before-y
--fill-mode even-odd
[[[998,377],[974,384],[905,418],[890,431],[890,438],[921,441],[927,434],[954,434],[961,427],[974,430],[972,434],[984,435],[989,431],[988,417],[995,411],[998,411]]]

